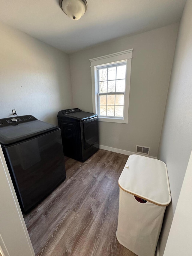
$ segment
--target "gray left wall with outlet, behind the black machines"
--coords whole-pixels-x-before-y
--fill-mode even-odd
[[[16,109],[57,124],[73,107],[69,56],[3,23],[0,31],[0,118]]]

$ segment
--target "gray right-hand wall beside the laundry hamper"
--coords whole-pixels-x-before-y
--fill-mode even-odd
[[[179,25],[158,159],[167,164],[172,203],[167,207],[160,237],[163,255],[192,149],[192,1]],[[187,195],[190,196],[190,195]]]

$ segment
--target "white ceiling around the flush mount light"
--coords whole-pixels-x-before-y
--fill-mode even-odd
[[[0,2],[0,20],[66,53],[179,22],[186,0],[87,0],[70,20],[58,0]]]

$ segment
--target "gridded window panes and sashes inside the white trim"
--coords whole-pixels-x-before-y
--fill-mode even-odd
[[[126,62],[97,68],[99,116],[124,118],[126,68]]]

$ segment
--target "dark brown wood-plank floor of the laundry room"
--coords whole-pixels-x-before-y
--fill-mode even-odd
[[[118,179],[128,156],[65,158],[67,179],[24,216],[36,256],[137,256],[116,239]]]

